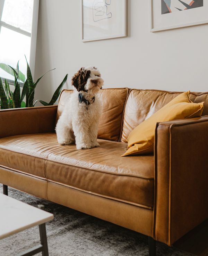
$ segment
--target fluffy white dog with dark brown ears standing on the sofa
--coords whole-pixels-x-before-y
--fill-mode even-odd
[[[56,133],[58,143],[76,143],[77,150],[99,147],[98,123],[102,102],[98,96],[103,79],[96,67],[80,68],[72,77],[73,93],[60,116]]]

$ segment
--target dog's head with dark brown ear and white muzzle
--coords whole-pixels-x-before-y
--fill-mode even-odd
[[[83,91],[88,94],[95,94],[102,89],[104,81],[96,67],[82,67],[72,77],[71,83],[78,92]]]

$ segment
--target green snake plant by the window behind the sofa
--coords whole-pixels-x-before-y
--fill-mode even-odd
[[[26,61],[27,61],[27,59],[26,59]],[[35,88],[37,86],[37,83],[49,71],[47,71],[40,78],[38,78],[36,82],[34,82],[28,62],[27,62],[27,78],[25,78],[25,75],[21,71],[19,71],[19,61],[17,63],[16,68],[13,68],[4,63],[0,63],[0,68],[2,68],[4,71],[9,73],[10,75],[13,75],[15,78],[15,90],[14,90],[14,92],[12,92],[7,80],[5,79],[5,82],[3,84],[1,77],[0,77],[0,99],[1,99],[0,106],[1,106],[1,109],[34,107],[37,101],[39,101],[44,106],[53,105],[55,103],[55,101],[58,99],[63,85],[67,81],[67,75],[66,75],[64,77],[63,81],[61,82],[61,84],[58,86],[57,90],[54,92],[53,97],[51,98],[49,103],[47,103],[43,100],[36,100],[34,102],[34,94],[35,94]],[[51,70],[53,70],[53,69],[51,69]],[[21,93],[20,93],[20,81],[24,83]]]

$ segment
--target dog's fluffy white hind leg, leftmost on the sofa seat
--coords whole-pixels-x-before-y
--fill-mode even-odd
[[[64,116],[61,116],[56,126],[56,133],[58,143],[61,145],[68,145],[75,142],[75,138],[72,131],[72,125],[70,122],[66,124]]]

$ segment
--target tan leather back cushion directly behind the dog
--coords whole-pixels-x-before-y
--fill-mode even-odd
[[[72,92],[73,90],[63,90],[61,92],[57,111],[57,120]],[[119,141],[128,88],[102,89],[99,93],[103,107],[98,126],[98,138]]]

